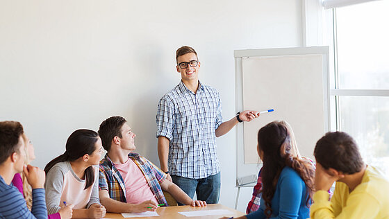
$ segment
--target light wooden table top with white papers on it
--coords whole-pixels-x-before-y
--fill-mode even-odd
[[[220,216],[202,216],[202,217],[185,217],[182,214],[178,213],[181,211],[200,211],[200,210],[216,210],[216,209],[226,209],[233,212],[233,215],[220,215]],[[171,218],[171,219],[198,219],[198,218],[222,218],[224,216],[228,217],[239,217],[244,216],[245,213],[236,211],[235,209],[230,209],[229,207],[225,207],[222,204],[208,204],[206,207],[190,207],[188,205],[185,206],[174,206],[174,207],[159,207],[157,210],[159,217],[147,217],[151,219],[158,218]],[[124,218],[121,213],[107,213],[105,218]],[[145,217],[143,217],[145,218]],[[138,218],[134,218],[138,219]],[[141,218],[139,218],[141,219]]]

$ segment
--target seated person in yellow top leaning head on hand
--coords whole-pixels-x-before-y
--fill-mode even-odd
[[[311,218],[389,218],[389,181],[367,166],[345,132],[328,132],[315,147],[316,193]],[[329,201],[326,191],[336,182]]]

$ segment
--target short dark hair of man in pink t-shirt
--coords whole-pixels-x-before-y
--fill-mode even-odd
[[[122,126],[126,122],[126,119],[122,116],[111,116],[100,124],[98,132],[101,138],[101,143],[103,143],[103,147],[107,152],[110,151],[112,139],[115,136],[122,138]]]

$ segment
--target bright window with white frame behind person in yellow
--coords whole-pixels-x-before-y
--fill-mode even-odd
[[[367,162],[389,176],[389,1],[332,10],[332,115]]]

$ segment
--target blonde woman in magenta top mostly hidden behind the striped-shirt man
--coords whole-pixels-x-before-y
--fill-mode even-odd
[[[31,143],[30,139],[26,137],[26,134],[22,135],[24,140],[24,151],[26,152],[26,158],[24,159],[25,164],[29,164],[30,161],[35,159],[35,152],[33,143]],[[19,189],[20,193],[23,194],[24,199],[26,200],[26,204],[28,209],[31,209],[33,204],[33,196],[31,191],[31,186],[27,182],[26,175],[24,173],[17,173],[13,177],[13,185]],[[49,219],[58,219],[58,218],[72,218],[72,210],[73,205],[68,204],[66,207],[61,208],[58,213],[53,213],[48,216]]]

